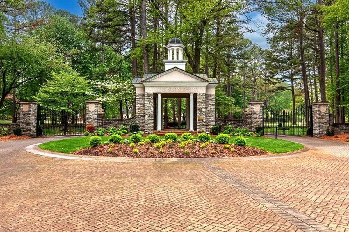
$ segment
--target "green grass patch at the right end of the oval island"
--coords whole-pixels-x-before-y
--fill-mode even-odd
[[[282,139],[273,139],[266,137],[245,137],[247,140],[247,146],[256,147],[262,150],[266,150],[271,153],[286,153],[300,150],[304,146],[296,142],[286,141]],[[230,142],[234,140],[234,137],[230,139]]]

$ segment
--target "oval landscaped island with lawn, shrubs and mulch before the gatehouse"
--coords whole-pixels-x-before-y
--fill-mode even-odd
[[[303,148],[302,144],[256,136],[246,129],[225,131],[216,137],[207,133],[198,136],[183,133],[180,137],[175,133],[167,133],[163,137],[151,134],[144,137],[141,132],[127,134],[127,129],[123,127],[111,127],[108,131],[98,129],[96,133],[93,129],[89,130],[91,132],[86,132],[85,137],[46,142],[39,148],[76,155],[140,158],[243,157]]]

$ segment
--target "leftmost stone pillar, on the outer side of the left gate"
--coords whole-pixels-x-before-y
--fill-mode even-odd
[[[18,117],[17,122],[21,126],[23,135],[36,136],[37,114],[37,102],[20,102],[20,117]]]

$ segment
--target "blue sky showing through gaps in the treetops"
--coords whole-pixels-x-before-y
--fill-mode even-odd
[[[46,0],[46,2],[50,3],[56,9],[63,9],[76,15],[82,15],[82,10],[77,3],[77,0]],[[256,32],[245,33],[245,37],[258,44],[261,48],[268,48],[269,46],[266,43],[266,38],[261,36],[263,25],[267,22],[266,19],[259,13],[252,14],[251,16],[252,20],[248,26]]]

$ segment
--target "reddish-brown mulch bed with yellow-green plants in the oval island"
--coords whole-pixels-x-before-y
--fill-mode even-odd
[[[232,146],[234,151],[224,149],[222,144],[209,144],[206,148],[201,148],[200,143],[188,144],[185,148],[179,148],[178,143],[166,144],[163,147],[164,153],[160,153],[153,144],[137,145],[138,154],[133,153],[133,148],[125,144],[100,145],[90,147],[74,152],[75,155],[94,155],[94,156],[114,156],[114,157],[134,157],[134,158],[209,158],[209,157],[243,157],[266,155],[266,151],[253,147]],[[112,151],[109,151],[112,148]],[[185,154],[185,150],[190,153]],[[213,153],[212,151],[215,151]]]

